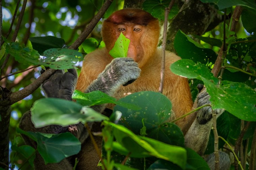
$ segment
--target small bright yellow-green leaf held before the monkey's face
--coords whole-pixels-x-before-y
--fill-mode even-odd
[[[127,57],[130,40],[121,33],[114,47],[109,51],[113,58]]]

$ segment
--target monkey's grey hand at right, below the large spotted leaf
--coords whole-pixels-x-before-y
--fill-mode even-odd
[[[206,92],[206,90],[201,91],[197,96],[197,107],[201,107],[205,104],[211,104],[210,95]],[[217,118],[224,112],[224,109],[216,109],[215,113],[217,114]],[[212,116],[212,108],[204,107],[197,112],[197,121],[200,125],[206,124],[211,121]]]

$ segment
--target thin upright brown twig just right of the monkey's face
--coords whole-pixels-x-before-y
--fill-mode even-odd
[[[162,64],[161,64],[161,74],[160,74],[160,86],[159,92],[163,92],[163,85],[164,85],[164,70],[165,70],[165,48],[166,48],[166,37],[167,37],[167,25],[168,25],[168,15],[170,10],[174,4],[175,0],[171,0],[168,8],[165,8],[164,12],[164,32],[163,32],[163,42],[162,42]]]

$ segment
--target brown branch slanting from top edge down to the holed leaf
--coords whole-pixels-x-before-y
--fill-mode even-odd
[[[75,42],[69,47],[69,49],[77,49],[92,32],[94,27],[99,22],[100,18],[104,15],[107,8],[110,6],[113,0],[106,0],[105,3],[100,8],[99,12],[93,17],[92,21],[88,24],[86,29],[81,33],[81,35],[75,40]]]

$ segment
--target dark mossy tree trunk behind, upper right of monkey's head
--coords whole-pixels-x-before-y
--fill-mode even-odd
[[[179,29],[185,34],[202,35],[216,14],[217,9],[209,3],[202,3],[200,0],[186,1],[170,24],[166,49],[175,52],[173,42]]]

